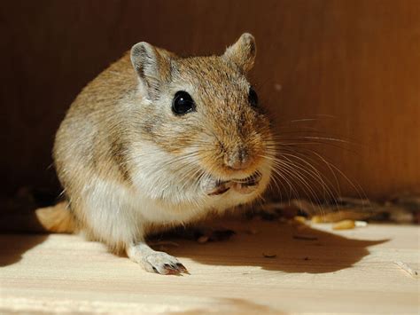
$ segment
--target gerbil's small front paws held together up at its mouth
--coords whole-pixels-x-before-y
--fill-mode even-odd
[[[217,180],[213,183],[213,187],[209,196],[220,195],[226,193],[229,189],[237,191],[237,193],[252,193],[261,181],[261,172],[255,171],[251,176],[241,179],[230,179],[228,181]]]

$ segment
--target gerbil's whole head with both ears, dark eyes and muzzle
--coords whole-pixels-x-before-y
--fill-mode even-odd
[[[230,190],[252,200],[268,184],[271,131],[246,79],[255,55],[246,33],[222,56],[180,58],[149,43],[131,50],[136,128],[166,156],[166,168],[175,166],[180,181],[199,181],[206,196]]]

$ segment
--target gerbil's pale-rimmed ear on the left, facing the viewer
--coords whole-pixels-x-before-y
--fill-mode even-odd
[[[159,98],[162,83],[170,78],[171,57],[175,55],[150,43],[136,43],[131,48],[131,63],[147,98]]]

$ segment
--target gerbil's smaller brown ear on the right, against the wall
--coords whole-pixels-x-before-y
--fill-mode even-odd
[[[255,38],[249,33],[244,33],[239,37],[237,43],[234,43],[226,49],[223,58],[229,59],[237,65],[242,71],[247,72],[253,68],[253,61],[257,54]]]

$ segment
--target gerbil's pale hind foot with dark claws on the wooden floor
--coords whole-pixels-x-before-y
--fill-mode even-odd
[[[160,274],[180,274],[187,272],[183,264],[174,256],[155,251],[144,242],[129,245],[127,256],[137,264],[141,264],[147,272]]]

